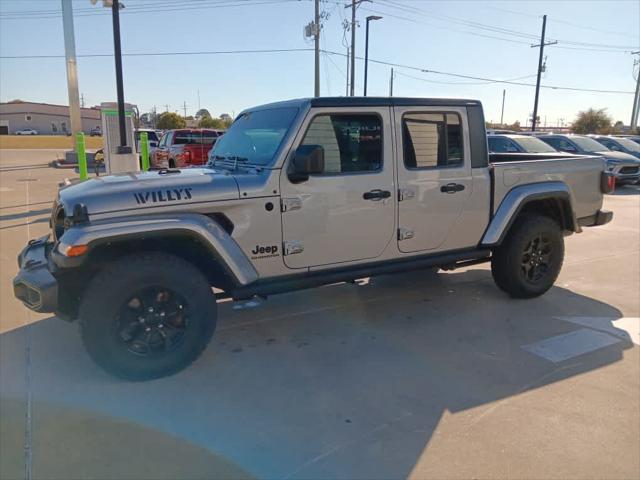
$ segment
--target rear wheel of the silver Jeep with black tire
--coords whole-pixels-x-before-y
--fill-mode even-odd
[[[536,239],[542,239],[538,245],[542,241],[544,247],[535,247]],[[539,251],[544,253],[536,253]],[[491,273],[496,285],[511,297],[533,298],[551,288],[563,260],[564,237],[560,225],[544,215],[525,214],[515,221],[502,244],[493,251]],[[532,265],[540,269],[539,278],[531,274]]]

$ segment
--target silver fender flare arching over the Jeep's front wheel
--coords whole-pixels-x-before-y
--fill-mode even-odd
[[[197,213],[130,216],[117,221],[99,220],[72,226],[60,238],[56,253],[67,258],[61,252],[71,245],[89,245],[91,249],[108,242],[169,233],[184,233],[198,238],[237,284],[248,285],[258,279],[255,268],[231,235],[214,219]]]

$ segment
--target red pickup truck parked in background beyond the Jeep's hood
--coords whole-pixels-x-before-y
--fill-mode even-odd
[[[169,130],[151,157],[152,168],[184,168],[207,163],[220,133],[212,129]]]

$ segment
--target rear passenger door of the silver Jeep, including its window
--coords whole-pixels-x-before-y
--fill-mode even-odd
[[[395,107],[398,248],[447,250],[473,181],[466,108]]]

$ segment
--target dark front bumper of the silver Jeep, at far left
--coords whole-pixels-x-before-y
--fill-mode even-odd
[[[31,240],[18,255],[20,271],[13,279],[15,297],[34,312],[53,313],[58,306],[58,281],[51,274],[49,235]]]

